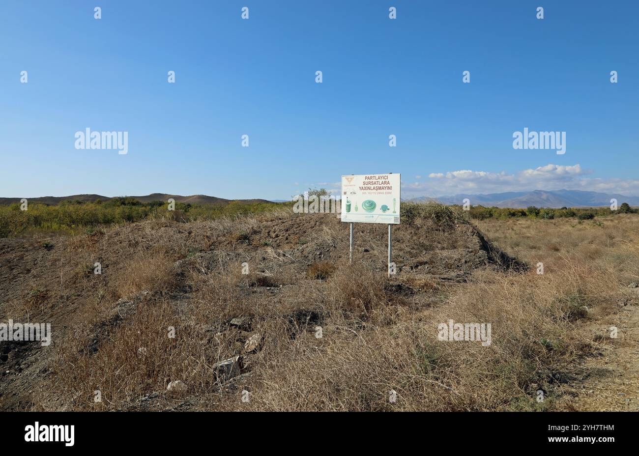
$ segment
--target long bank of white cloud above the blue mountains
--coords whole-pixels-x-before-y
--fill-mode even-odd
[[[403,185],[406,197],[442,196],[460,193],[523,192],[529,190],[592,190],[639,195],[639,179],[601,179],[588,177],[592,171],[576,165],[548,164],[535,169],[508,174],[502,172],[460,171],[431,172],[426,181]]]

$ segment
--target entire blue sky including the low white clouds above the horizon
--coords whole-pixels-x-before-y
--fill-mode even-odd
[[[285,199],[380,172],[403,196],[639,195],[636,1],[3,0],[0,43],[3,197]],[[86,128],[128,153],[75,149]],[[513,149],[523,128],[566,153]]]

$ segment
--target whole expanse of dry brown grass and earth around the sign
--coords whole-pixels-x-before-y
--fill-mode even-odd
[[[284,209],[146,220],[47,246],[7,239],[24,249],[15,268],[29,274],[3,278],[0,317],[52,321],[58,333],[47,351],[10,356],[21,377],[0,379],[13,391],[0,405],[566,409],[557,379],[607,343],[589,322],[639,301],[628,287],[639,282],[639,216],[482,220],[478,232],[451,208],[406,206],[404,215],[390,280],[385,227],[357,225],[350,266],[346,224]],[[498,261],[502,251],[528,271]],[[491,323],[491,344],[438,340],[449,319]],[[248,350],[250,338],[258,344]],[[239,375],[220,372],[228,359]],[[30,374],[42,369],[49,374]],[[184,390],[167,391],[177,380]]]

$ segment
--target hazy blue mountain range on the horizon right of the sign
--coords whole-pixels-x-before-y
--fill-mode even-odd
[[[504,192],[493,194],[458,194],[436,198],[419,197],[410,201],[438,201],[442,204],[463,204],[468,198],[473,206],[496,206],[498,208],[594,208],[610,206],[611,199],[617,199],[617,204],[627,202],[631,206],[639,206],[639,197],[619,194],[605,194],[599,192],[584,192],[583,190],[534,190],[532,192]]]

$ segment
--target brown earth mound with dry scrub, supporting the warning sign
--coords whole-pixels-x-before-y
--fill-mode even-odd
[[[91,382],[101,374],[104,382],[108,370],[102,363],[107,370],[98,372],[92,363],[100,356],[125,363],[128,356],[147,353],[149,344],[143,340],[130,342],[138,345],[123,353],[114,348],[121,331],[138,320],[150,325],[157,318],[158,328],[174,326],[188,333],[188,342],[178,344],[185,354],[200,350],[201,341],[217,344],[214,359],[208,352],[201,357],[215,367],[233,356],[262,356],[258,349],[243,353],[242,347],[249,338],[261,340],[265,331],[299,337],[338,311],[355,322],[354,328],[366,328],[380,302],[432,305],[434,289],[468,280],[475,270],[528,269],[465,220],[420,215],[393,227],[396,275],[389,281],[384,277],[387,227],[355,225],[352,265],[348,229],[335,215],[288,214],[189,224],[139,222],[49,241],[0,239],[0,319],[50,323],[53,331],[49,347],[0,342],[0,409],[88,407],[91,391],[100,389]],[[96,263],[100,274],[95,274]],[[238,316],[253,322],[254,333],[229,323]],[[327,328],[339,331],[341,326]],[[127,340],[145,336],[140,333]],[[171,340],[166,344],[164,350],[177,349]],[[70,372],[72,358],[82,362]],[[250,365],[242,361],[242,369]],[[185,379],[195,375],[167,369]],[[157,372],[144,375],[130,380],[134,386],[127,397],[138,392],[137,386],[146,388],[144,397],[155,397],[171,380],[166,372],[153,381],[148,376]],[[53,387],[67,381],[65,388]]]

